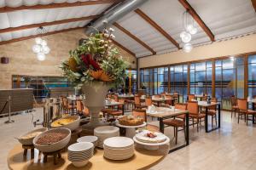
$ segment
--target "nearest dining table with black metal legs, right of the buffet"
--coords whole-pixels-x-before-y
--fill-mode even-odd
[[[185,114],[185,128],[186,128],[185,140],[186,140],[186,142],[185,142],[185,144],[178,146],[177,148],[169,150],[169,153],[171,153],[175,150],[182,149],[183,147],[189,145],[189,111],[182,111],[182,110],[178,110],[178,109],[175,109],[173,111],[172,109],[166,108],[166,107],[155,107],[154,111],[147,110],[146,113],[148,116],[153,116],[153,117],[158,118],[161,133],[165,133],[164,132],[164,122],[163,122],[164,119]]]

